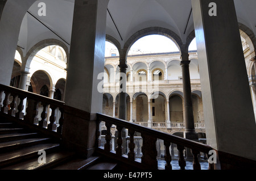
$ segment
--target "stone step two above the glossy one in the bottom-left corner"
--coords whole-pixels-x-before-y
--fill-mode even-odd
[[[0,142],[0,153],[19,149],[25,146],[32,146],[36,144],[42,144],[49,141],[49,138],[27,138],[22,140]]]

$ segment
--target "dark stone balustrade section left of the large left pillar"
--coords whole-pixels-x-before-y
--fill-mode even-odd
[[[0,85],[0,113],[9,116],[7,119],[20,120],[20,123],[61,137],[64,102]]]

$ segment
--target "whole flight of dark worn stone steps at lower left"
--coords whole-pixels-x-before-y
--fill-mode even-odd
[[[38,161],[41,150],[46,151],[45,163]],[[0,118],[0,170],[113,170],[116,166],[101,157],[79,158],[61,148],[59,141]]]

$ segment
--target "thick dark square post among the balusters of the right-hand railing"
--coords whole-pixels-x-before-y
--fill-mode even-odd
[[[158,153],[156,150],[156,137],[142,134],[142,157],[141,162],[150,166],[152,169],[158,169],[158,161],[156,159]]]

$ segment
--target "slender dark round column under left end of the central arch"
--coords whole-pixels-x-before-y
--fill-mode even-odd
[[[120,61],[122,62],[122,61]],[[126,84],[127,84],[127,77],[126,77],[126,64],[118,65],[120,68],[120,84],[119,84],[119,103],[118,103],[118,118],[122,120],[126,120]]]

